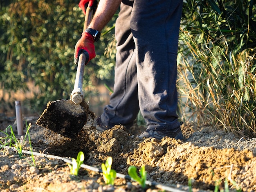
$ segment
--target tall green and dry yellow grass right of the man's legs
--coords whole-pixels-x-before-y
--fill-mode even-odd
[[[234,30],[229,18],[235,12],[222,18],[217,11],[197,6],[190,6],[195,11],[186,8],[191,18],[182,20],[180,31],[180,115],[184,121],[256,136],[256,51],[244,48],[254,32],[249,33],[250,22]],[[242,27],[247,31],[242,33]]]

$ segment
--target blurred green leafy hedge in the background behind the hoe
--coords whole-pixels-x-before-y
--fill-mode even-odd
[[[2,4],[0,88],[25,90],[26,82],[33,81],[40,90],[35,98],[37,106],[70,97],[76,74],[74,47],[84,22],[78,3],[78,0],[13,0]],[[106,36],[112,37],[111,33]],[[109,40],[106,36],[95,44],[97,57],[85,68],[85,97],[93,91],[98,79],[112,77],[115,58],[103,55]]]

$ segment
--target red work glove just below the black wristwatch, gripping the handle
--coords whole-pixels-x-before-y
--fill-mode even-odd
[[[76,64],[78,64],[79,55],[81,53],[84,53],[86,56],[85,65],[96,56],[94,48],[94,38],[90,33],[83,32],[82,37],[76,43],[74,53],[74,62]]]

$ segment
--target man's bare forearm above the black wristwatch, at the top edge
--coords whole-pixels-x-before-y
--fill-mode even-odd
[[[121,0],[100,0],[97,10],[88,28],[101,31],[114,16]]]

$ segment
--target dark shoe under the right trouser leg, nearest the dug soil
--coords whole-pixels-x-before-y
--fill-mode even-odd
[[[174,131],[154,131],[154,130],[146,130],[142,132],[138,137],[139,138],[144,138],[144,137],[154,137],[157,139],[162,139],[165,136],[168,136],[170,138],[175,138],[175,139],[180,139],[184,140],[183,134],[181,129],[177,129],[175,132]]]

